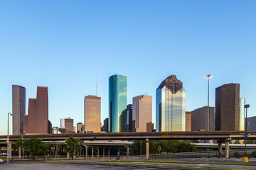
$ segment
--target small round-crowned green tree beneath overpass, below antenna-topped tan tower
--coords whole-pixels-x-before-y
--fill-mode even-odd
[[[70,136],[68,140],[65,140],[65,152],[68,152],[70,156],[73,157],[75,154],[80,154],[82,150],[82,143],[83,141],[80,138],[75,138],[73,136]]]

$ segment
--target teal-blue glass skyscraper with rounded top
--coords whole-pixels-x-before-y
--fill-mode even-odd
[[[113,75],[109,78],[109,130],[120,132],[120,115],[127,108],[127,77]]]

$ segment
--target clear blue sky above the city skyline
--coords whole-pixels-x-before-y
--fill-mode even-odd
[[[84,121],[84,97],[102,98],[108,78],[127,76],[127,101],[153,96],[171,74],[186,89],[186,111],[215,106],[215,88],[239,83],[256,115],[256,1],[0,1],[0,135],[12,111],[11,85],[48,86],[49,120]],[[27,106],[28,108],[28,106]],[[26,111],[27,113],[27,111]],[[11,119],[10,119],[10,132]]]

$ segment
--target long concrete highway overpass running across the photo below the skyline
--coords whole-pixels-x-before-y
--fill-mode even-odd
[[[247,132],[247,140],[256,140],[256,131]],[[146,158],[149,158],[149,140],[218,140],[219,153],[225,143],[225,155],[229,157],[230,140],[244,140],[243,131],[192,131],[192,132],[106,132],[106,133],[73,133],[73,134],[31,134],[23,135],[24,140],[38,137],[47,141],[63,141],[68,137],[79,137],[81,140],[146,140]],[[19,135],[9,135],[9,141],[15,142]],[[6,142],[7,136],[0,136],[0,142]]]

